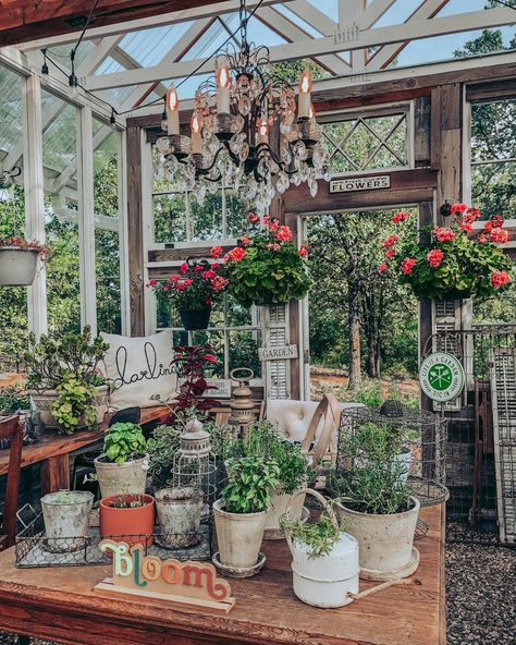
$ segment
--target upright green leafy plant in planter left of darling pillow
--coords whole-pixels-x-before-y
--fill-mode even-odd
[[[42,334],[38,341],[30,333],[24,354],[28,389],[53,390],[63,378],[71,377],[96,387],[106,384],[99,365],[109,344],[100,336],[93,338],[88,325],[82,333],[54,332]]]

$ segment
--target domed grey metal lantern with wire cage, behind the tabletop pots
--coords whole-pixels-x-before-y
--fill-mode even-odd
[[[216,497],[216,460],[211,452],[210,435],[202,424],[193,418],[180,437],[180,448],[174,454],[172,482],[177,488],[188,487],[202,491],[205,503]]]

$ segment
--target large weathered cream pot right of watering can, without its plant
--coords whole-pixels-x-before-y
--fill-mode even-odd
[[[334,504],[347,533],[358,541],[360,570],[366,575],[370,572],[371,580],[374,572],[388,580],[390,572],[396,575],[409,564],[420,506],[415,497],[410,503],[408,511],[385,515],[359,513],[342,503]]]

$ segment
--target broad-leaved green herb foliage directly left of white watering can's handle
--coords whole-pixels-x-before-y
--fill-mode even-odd
[[[229,513],[260,513],[270,506],[270,490],[279,484],[280,468],[266,457],[231,458],[226,463],[228,484],[221,490]]]

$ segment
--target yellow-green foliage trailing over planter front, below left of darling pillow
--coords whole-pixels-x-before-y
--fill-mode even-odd
[[[99,390],[95,385],[81,381],[70,373],[62,375],[57,390],[59,395],[52,403],[52,414],[66,435],[72,435],[81,423],[88,427],[98,425],[95,404]]]

